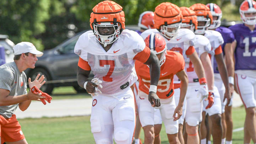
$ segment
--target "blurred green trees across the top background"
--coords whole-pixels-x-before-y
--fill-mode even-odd
[[[0,0],[0,34],[9,35],[15,44],[32,42],[37,49],[51,49],[90,29],[92,8],[102,0]],[[123,7],[126,25],[137,25],[139,15],[154,11],[166,0],[113,0]],[[222,9],[222,20],[240,21],[239,6],[243,0],[172,0],[177,6],[215,3]]]

